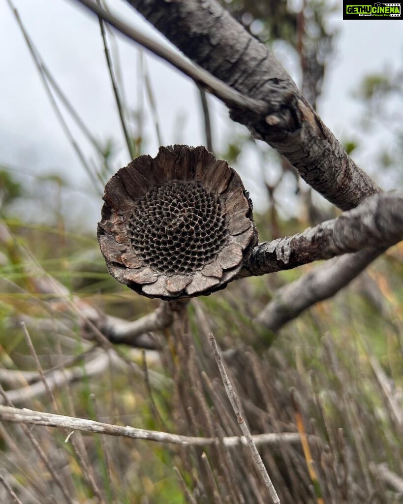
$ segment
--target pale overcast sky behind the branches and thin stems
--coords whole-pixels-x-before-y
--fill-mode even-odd
[[[94,136],[104,141],[113,137],[120,142],[116,169],[127,164],[97,20],[71,0],[14,0],[14,4],[46,65]],[[127,3],[110,0],[109,5],[132,26],[163,40]],[[358,135],[360,107],[351,94],[362,77],[369,72],[397,67],[401,61],[403,21],[343,21],[340,10],[332,22],[339,27],[340,34],[335,41],[336,50],[326,74],[318,111],[333,133],[343,139]],[[122,36],[118,36],[118,43],[127,103],[137,109],[139,50]],[[297,77],[292,59],[286,58],[281,51],[277,55],[293,77]],[[147,54],[146,59],[163,144],[203,144],[195,86],[158,58]],[[89,187],[87,175],[57,122],[22,34],[4,0],[0,2],[0,68],[0,164],[24,167],[33,173],[58,171],[72,183]],[[158,142],[147,99],[144,101],[147,150],[155,155]],[[215,141],[220,146],[228,139],[228,114],[217,100],[210,101]],[[91,147],[74,127],[73,132],[86,155],[93,156]],[[385,132],[379,130],[375,135],[379,138]],[[373,173],[376,166],[372,162],[371,145],[368,142],[367,148],[361,149],[356,157],[364,169]],[[252,159],[244,162],[253,164]],[[250,174],[252,171],[250,167]],[[248,185],[249,177],[246,178]],[[382,184],[392,188],[393,180],[383,179]],[[259,193],[256,185],[250,181],[247,188],[257,204],[262,205],[264,194]],[[70,195],[69,198],[75,197]],[[79,201],[76,210],[84,209],[89,220],[95,222],[99,200],[89,200],[82,206]]]

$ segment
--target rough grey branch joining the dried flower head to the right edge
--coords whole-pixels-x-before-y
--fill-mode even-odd
[[[387,247],[401,239],[403,194],[376,195],[337,219],[308,228],[303,233],[259,243],[239,276],[289,270],[367,247]]]

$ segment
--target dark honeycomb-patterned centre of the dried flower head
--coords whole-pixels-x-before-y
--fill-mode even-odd
[[[223,248],[227,235],[218,198],[196,181],[152,187],[136,201],[128,223],[133,251],[168,275],[201,270]]]

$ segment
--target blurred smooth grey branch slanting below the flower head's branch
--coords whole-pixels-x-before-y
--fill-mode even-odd
[[[366,248],[327,261],[322,266],[276,292],[275,297],[256,317],[256,322],[271,331],[278,331],[309,306],[334,296],[346,287],[385,248]]]

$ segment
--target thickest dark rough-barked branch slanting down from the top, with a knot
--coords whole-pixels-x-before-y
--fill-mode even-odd
[[[231,117],[295,166],[324,198],[349,210],[380,192],[352,161],[273,54],[215,0],[127,0],[197,65],[266,111]]]

